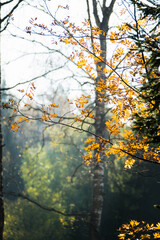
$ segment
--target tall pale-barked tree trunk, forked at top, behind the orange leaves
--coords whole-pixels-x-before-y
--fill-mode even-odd
[[[104,62],[96,64],[97,69],[97,79],[95,86],[95,133],[97,136],[105,137],[105,104],[99,99],[105,97],[105,93],[100,93],[96,90],[98,84],[106,81],[106,76],[103,73],[103,69],[106,68],[106,53],[107,53],[107,44],[106,36],[108,33],[108,23],[113,10],[113,6],[116,0],[112,0],[109,7],[106,7],[106,0],[103,1],[102,14],[103,18],[100,21],[98,16],[98,3],[96,0],[92,0],[93,4],[93,13],[97,26],[105,32],[105,35],[100,36],[100,57]],[[96,139],[99,142],[99,139]],[[91,209],[91,223],[90,223],[90,240],[99,240],[100,237],[100,226],[101,226],[101,217],[103,211],[103,202],[104,202],[104,156],[103,151],[99,152],[101,161],[95,162],[94,165],[94,178],[93,178],[93,198],[92,198],[92,209]],[[96,152],[95,152],[96,155]]]

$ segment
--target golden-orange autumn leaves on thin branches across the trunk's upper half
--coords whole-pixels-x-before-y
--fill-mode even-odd
[[[59,6],[62,8],[62,6]],[[64,9],[68,7],[64,6]],[[124,9],[121,14],[125,14]],[[100,44],[99,38],[105,36],[105,32],[99,29],[97,26],[91,26],[90,21],[87,19],[82,23],[82,27],[76,26],[68,19],[62,21],[56,20],[53,16],[52,27],[38,23],[38,18],[35,17],[30,20],[30,27],[27,32],[32,34],[32,29],[39,34],[51,34],[53,35],[53,44],[64,44],[73,46],[71,54],[68,59],[78,68],[81,68],[86,76],[90,78],[90,82],[95,85],[95,91],[98,93],[99,102],[104,102],[108,107],[111,106],[111,118],[106,121],[106,129],[104,131],[109,133],[109,138],[101,139],[101,136],[96,136],[99,139],[98,142],[91,142],[88,138],[86,147],[86,156],[84,162],[100,161],[99,155],[93,157],[93,150],[103,151],[104,156],[110,154],[116,154],[118,159],[125,158],[125,168],[131,168],[136,162],[149,161],[159,163],[160,146],[150,146],[149,139],[145,132],[138,135],[135,134],[133,120],[135,115],[140,112],[143,113],[143,118],[149,116],[148,106],[151,107],[154,104],[154,100],[151,100],[145,96],[145,92],[141,91],[147,81],[147,77],[144,74],[146,71],[146,62],[149,61],[149,55],[145,52],[137,51],[136,43],[127,38],[128,34],[132,31],[140,31],[140,29],[147,28],[147,17],[139,18],[137,21],[131,21],[130,23],[122,23],[117,26],[115,30],[109,31],[108,43],[113,45],[116,43],[112,56],[106,62],[100,57]],[[63,30],[63,33],[59,37],[54,37],[54,27],[58,27]],[[158,29],[156,30],[158,31]],[[75,36],[76,35],[76,36]],[[77,37],[78,36],[78,37]],[[157,39],[158,40],[158,39]],[[152,41],[147,38],[146,41]],[[105,68],[102,68],[97,63],[104,63]],[[125,64],[125,67],[122,67]],[[121,70],[122,69],[122,70]],[[105,80],[101,79],[96,83],[96,72],[105,75]],[[156,71],[156,68],[155,68]],[[154,71],[152,72],[152,75]],[[22,94],[24,90],[20,90]],[[34,99],[34,91],[36,88],[34,83],[31,84],[29,91],[25,93],[25,98],[32,101]],[[82,94],[75,100],[67,100],[69,104],[74,105],[77,111],[72,111],[74,123],[71,127],[76,126],[77,130],[81,127],[77,127],[78,123],[94,122],[95,113],[94,107],[89,108],[88,103],[94,99],[94,91],[91,90],[89,95]],[[26,105],[27,106],[27,103]],[[7,107],[7,106],[6,106]],[[56,103],[51,103],[48,106],[41,108],[42,115],[40,116],[42,121],[49,124],[63,124],[64,118],[58,116],[55,113],[54,108],[62,108]],[[14,108],[14,111],[17,111]],[[78,112],[78,113],[77,113]],[[23,121],[30,121],[32,117],[23,116]],[[17,122],[11,125],[11,130],[17,131],[22,121],[20,118]],[[66,124],[66,123],[65,123]],[[83,124],[82,124],[83,125]],[[80,126],[80,125],[79,125]],[[85,131],[85,129],[83,129]],[[157,135],[160,134],[160,129],[157,129]],[[94,135],[93,132],[90,134]],[[87,161],[86,161],[87,160]]]

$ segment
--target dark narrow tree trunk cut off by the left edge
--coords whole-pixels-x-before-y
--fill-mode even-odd
[[[1,18],[1,8],[0,8],[0,18]],[[1,24],[0,24],[1,30]],[[1,37],[1,36],[0,36]],[[1,43],[1,39],[0,39]],[[0,67],[1,67],[1,54],[0,54]],[[3,228],[4,228],[4,206],[3,206],[3,182],[2,182],[2,173],[3,173],[3,163],[2,163],[2,149],[3,149],[3,140],[2,140],[2,102],[1,102],[1,69],[0,69],[0,239],[3,240]]]

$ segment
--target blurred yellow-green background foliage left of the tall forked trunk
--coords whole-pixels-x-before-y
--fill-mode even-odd
[[[89,212],[89,168],[82,166],[71,181],[75,168],[82,161],[82,153],[79,153],[73,143],[68,141],[67,144],[60,129],[56,129],[56,134],[52,134],[56,137],[51,146],[43,149],[40,146],[27,148],[23,152],[21,176],[24,195],[43,206],[53,207],[64,213]],[[72,137],[73,135],[74,142],[81,144],[76,134],[72,133]],[[63,144],[60,145],[59,141]],[[14,202],[6,200],[5,211],[6,240],[71,239],[77,232],[84,238],[84,234],[79,230],[83,230],[84,223],[79,217],[65,217],[52,211],[44,211],[22,199]]]

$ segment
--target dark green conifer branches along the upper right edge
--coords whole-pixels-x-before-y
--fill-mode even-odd
[[[140,88],[142,99],[146,102],[146,109],[134,114],[134,129],[143,136],[148,142],[160,144],[160,48],[159,48],[159,23],[160,5],[156,1],[149,0],[148,3],[132,1],[138,8],[141,19],[147,19],[149,24],[145,29],[136,27],[134,34],[130,37],[134,40],[137,51],[142,55],[144,64],[143,77],[144,84]],[[145,57],[147,55],[147,57]]]

